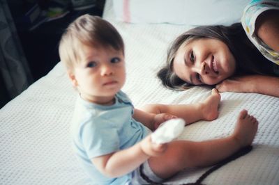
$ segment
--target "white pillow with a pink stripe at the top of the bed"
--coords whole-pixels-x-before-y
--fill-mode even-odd
[[[113,0],[116,19],[130,23],[230,25],[250,0]]]

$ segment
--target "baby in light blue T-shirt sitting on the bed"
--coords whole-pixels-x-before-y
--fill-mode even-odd
[[[121,91],[126,80],[124,45],[109,22],[82,15],[68,26],[59,55],[79,96],[73,115],[73,149],[93,184],[148,184],[185,168],[210,166],[250,145],[257,120],[243,110],[234,132],[225,138],[194,142],[174,140],[157,144],[151,131],[172,118],[188,124],[218,117],[216,89],[202,103],[153,104],[140,111]],[[151,113],[152,112],[152,113]]]

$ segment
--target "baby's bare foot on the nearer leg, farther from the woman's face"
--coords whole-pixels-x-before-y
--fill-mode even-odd
[[[243,110],[239,113],[239,118],[234,128],[232,136],[240,147],[251,145],[257,133],[258,126],[257,119],[248,114],[248,111]]]

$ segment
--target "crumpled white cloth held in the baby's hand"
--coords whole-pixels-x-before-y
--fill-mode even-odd
[[[179,137],[185,127],[185,121],[181,118],[167,120],[160,124],[158,129],[151,134],[153,143],[163,144]]]

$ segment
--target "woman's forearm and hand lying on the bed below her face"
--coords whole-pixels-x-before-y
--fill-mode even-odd
[[[279,77],[247,75],[226,79],[216,85],[219,92],[259,93],[279,97]]]

